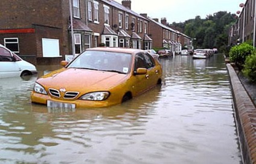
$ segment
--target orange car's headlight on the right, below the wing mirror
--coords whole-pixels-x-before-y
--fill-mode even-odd
[[[80,97],[81,100],[93,100],[93,101],[102,101],[106,100],[109,97],[109,92],[100,91],[95,93],[88,93]]]

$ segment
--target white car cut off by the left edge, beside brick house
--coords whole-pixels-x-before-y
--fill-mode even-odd
[[[36,74],[36,67],[0,44],[0,79]]]

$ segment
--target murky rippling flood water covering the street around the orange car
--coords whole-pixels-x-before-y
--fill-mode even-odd
[[[31,105],[36,76],[0,79],[0,163],[242,163],[223,56],[160,62],[161,86],[110,108]]]

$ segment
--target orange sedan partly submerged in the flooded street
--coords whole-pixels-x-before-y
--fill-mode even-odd
[[[162,67],[144,50],[112,47],[87,49],[71,62],[40,77],[31,102],[49,107],[117,105],[162,82]]]

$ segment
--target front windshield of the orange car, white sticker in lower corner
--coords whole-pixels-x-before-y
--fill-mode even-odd
[[[113,71],[127,74],[130,71],[132,55],[129,53],[86,50],[68,68]]]

